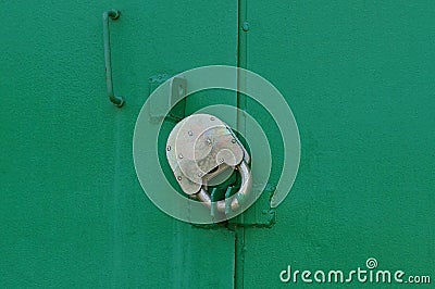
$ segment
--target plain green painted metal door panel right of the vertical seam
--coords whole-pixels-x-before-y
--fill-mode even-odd
[[[276,225],[246,230],[245,287],[371,256],[434,282],[434,2],[249,0],[248,18],[248,68],[286,97],[302,151]]]

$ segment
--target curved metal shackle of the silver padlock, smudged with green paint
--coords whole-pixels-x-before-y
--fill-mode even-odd
[[[252,187],[252,178],[251,173],[249,171],[249,166],[246,164],[245,161],[241,161],[240,164],[236,166],[237,171],[240,173],[241,176],[241,185],[240,189],[232,197],[233,200],[231,202],[232,211],[237,211],[244,201],[249,196],[249,192]],[[211,199],[210,194],[207,192],[204,186],[201,187],[201,190],[196,194],[196,197],[209,209],[211,209]],[[217,201],[215,203],[217,211],[221,213],[225,213],[226,202],[225,200]]]

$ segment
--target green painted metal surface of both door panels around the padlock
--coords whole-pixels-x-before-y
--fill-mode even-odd
[[[1,287],[232,288],[235,234],[154,208],[136,178],[132,137],[150,76],[237,64],[237,3],[0,3]],[[296,286],[279,281],[287,265],[350,271],[372,256],[434,282],[434,3],[246,7],[241,55],[286,97],[302,154],[276,225],[245,229],[237,284]],[[105,91],[110,8],[122,11],[110,23],[121,110]],[[199,93],[187,110],[207,104]],[[278,142],[260,109],[247,110]],[[275,153],[272,183],[282,161]]]

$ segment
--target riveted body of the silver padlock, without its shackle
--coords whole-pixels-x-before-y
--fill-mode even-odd
[[[194,114],[171,131],[166,158],[183,190],[192,194],[199,191],[203,177],[211,171],[215,169],[219,175],[228,166],[238,165],[244,150],[221,120],[209,114]]]

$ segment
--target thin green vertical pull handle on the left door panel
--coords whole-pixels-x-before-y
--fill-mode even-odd
[[[117,108],[124,104],[123,97],[116,97],[113,92],[113,79],[112,79],[112,60],[110,51],[110,30],[109,30],[109,18],[117,20],[121,15],[121,11],[111,9],[102,13],[102,35],[104,38],[104,60],[105,60],[105,83],[108,86],[108,96],[110,101]]]

